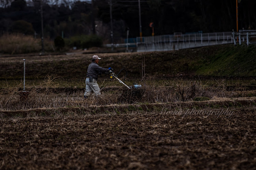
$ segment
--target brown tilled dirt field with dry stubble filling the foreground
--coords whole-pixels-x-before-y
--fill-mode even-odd
[[[255,169],[255,110],[240,98],[1,112],[0,169]]]

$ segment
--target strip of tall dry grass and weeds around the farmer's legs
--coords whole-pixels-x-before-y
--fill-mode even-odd
[[[238,92],[226,90],[223,82],[218,82],[215,86],[207,86],[198,81],[170,80],[158,83],[154,78],[138,82],[142,85],[139,90],[129,90],[119,84],[116,80],[103,82],[101,86],[102,95],[90,96],[83,100],[83,89],[60,89],[57,75],[47,75],[45,79],[34,85],[27,87],[29,96],[26,100],[21,100],[19,91],[23,84],[8,86],[0,91],[0,111],[18,111],[34,108],[63,108],[63,107],[87,107],[92,105],[116,105],[134,103],[173,103],[179,101],[193,101],[195,98],[232,98],[239,97]],[[240,91],[240,93],[242,93]],[[246,97],[246,92],[243,92]],[[248,96],[250,97],[250,96]]]

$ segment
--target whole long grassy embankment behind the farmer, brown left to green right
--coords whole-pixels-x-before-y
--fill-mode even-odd
[[[92,54],[80,56],[37,56],[27,57],[26,77],[57,74],[64,79],[85,77]],[[256,47],[218,45],[197,49],[184,49],[165,52],[100,54],[99,65],[112,67],[116,73],[126,68],[128,77],[141,77],[142,60],[145,58],[145,73],[159,77],[187,76],[256,76]],[[21,57],[4,58],[0,79],[20,79],[23,77]]]

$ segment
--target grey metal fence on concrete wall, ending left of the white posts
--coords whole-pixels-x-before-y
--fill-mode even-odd
[[[169,51],[233,43],[232,32],[137,37],[137,52]]]

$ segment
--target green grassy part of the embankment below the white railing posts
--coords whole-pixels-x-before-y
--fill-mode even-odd
[[[222,46],[219,51],[205,58],[202,65],[196,73],[206,76],[255,76],[256,66],[256,47],[242,46]]]

